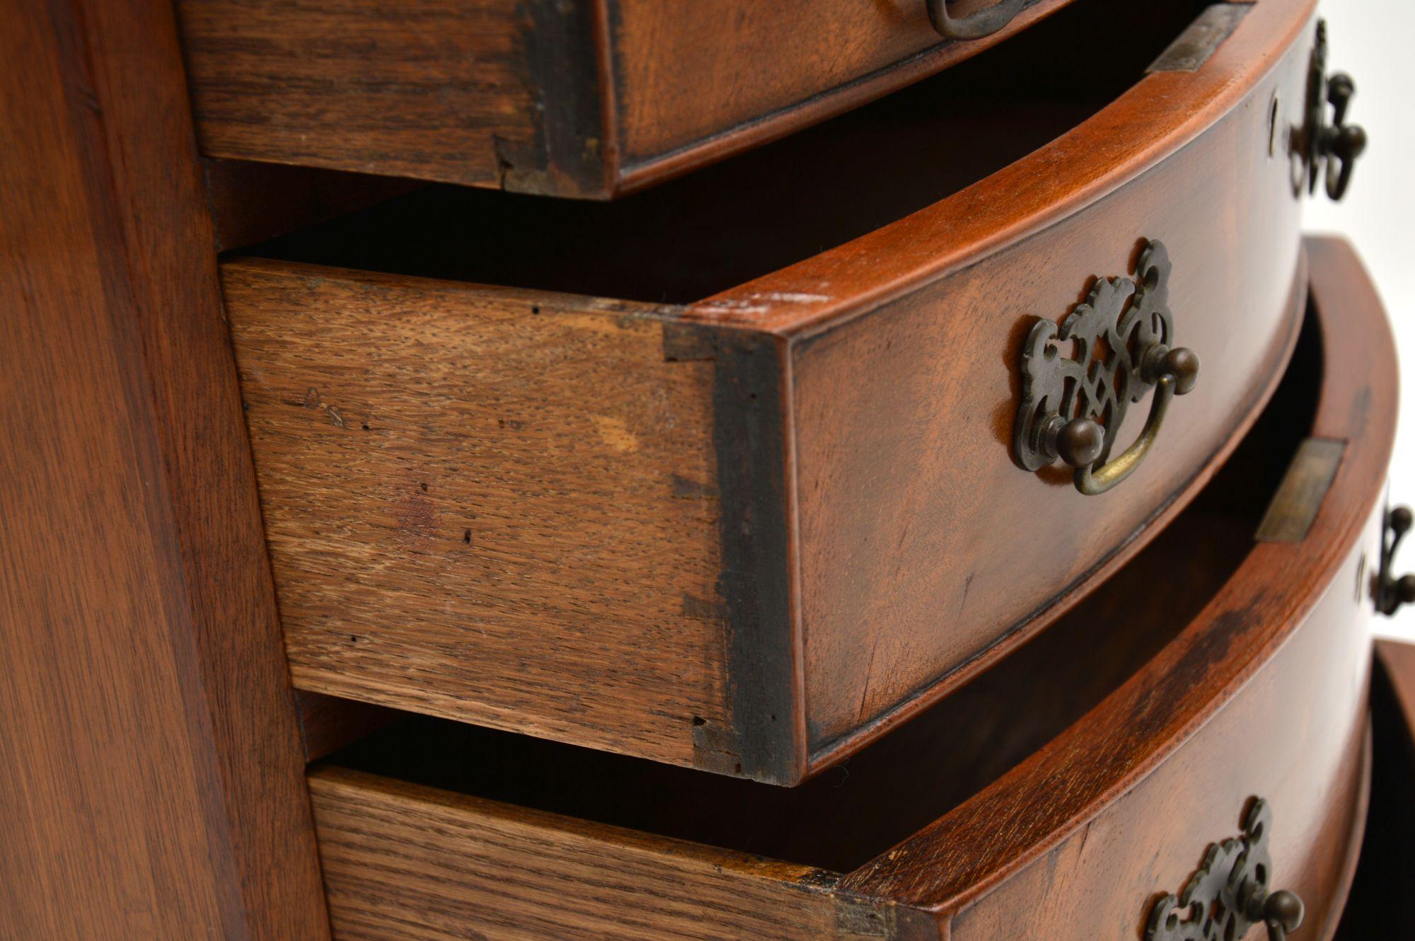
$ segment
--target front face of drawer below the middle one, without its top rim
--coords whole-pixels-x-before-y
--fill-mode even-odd
[[[1193,739],[1078,832],[964,908],[949,937],[1128,941],[1146,924],[1157,893],[1179,894],[1213,843],[1244,833],[1252,798],[1262,798],[1272,814],[1271,889],[1295,891],[1306,906],[1295,937],[1327,937],[1341,913],[1364,825],[1364,576],[1378,553],[1378,525],[1365,529],[1290,640]],[[1234,624],[1254,614],[1276,613],[1230,613]],[[1234,634],[1235,642],[1249,642],[1241,627]],[[1121,734],[1145,733],[1143,722],[1135,722]],[[1265,935],[1258,928],[1251,937]]]

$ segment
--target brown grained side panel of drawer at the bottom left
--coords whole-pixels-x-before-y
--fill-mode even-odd
[[[838,937],[807,866],[341,768],[310,787],[345,941]]]

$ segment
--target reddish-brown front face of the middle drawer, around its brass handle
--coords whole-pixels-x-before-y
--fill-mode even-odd
[[[812,764],[1058,614],[1157,532],[1257,416],[1305,306],[1300,202],[1286,154],[1269,151],[1268,105],[1302,98],[1306,62],[1295,44],[1197,140],[1075,215],[794,342]],[[1145,239],[1173,262],[1176,342],[1199,354],[1199,385],[1112,492],[1080,494],[1060,464],[1019,471],[1026,331],[1060,323],[1092,277],[1133,276]],[[1148,398],[1132,406],[1115,454],[1148,412]]]

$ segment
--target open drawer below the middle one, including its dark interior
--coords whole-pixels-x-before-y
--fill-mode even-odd
[[[1254,430],[988,674],[790,790],[410,719],[311,768],[335,934],[1131,941],[1189,917],[1155,913],[1248,824],[1249,880],[1327,937],[1364,819],[1397,376],[1354,255],[1309,250],[1307,328]]]

